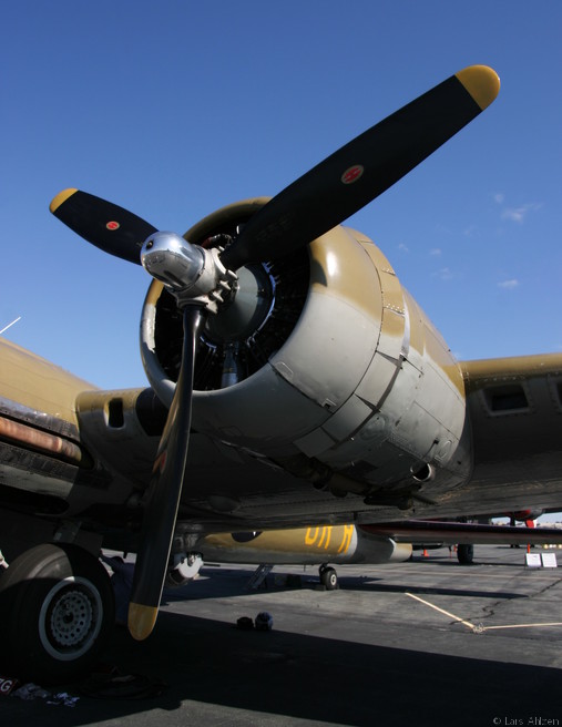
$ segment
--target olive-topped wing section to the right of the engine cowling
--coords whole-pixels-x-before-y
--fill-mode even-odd
[[[522,356],[460,364],[471,422],[473,471],[458,496],[472,500],[473,514],[501,511],[492,500],[518,499],[525,506],[562,506],[560,424],[562,355]],[[457,498],[453,495],[453,500]],[[470,504],[468,504],[470,508]]]

